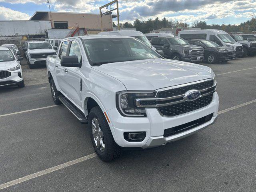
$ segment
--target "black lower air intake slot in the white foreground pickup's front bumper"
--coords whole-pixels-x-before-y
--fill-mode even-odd
[[[166,130],[164,130],[164,137],[168,137],[168,136],[172,136],[187,130],[190,130],[192,128],[195,128],[197,126],[200,126],[208,121],[210,121],[212,119],[213,114],[204,116],[202,118],[199,118],[197,120],[176,126],[176,127],[172,127],[172,128],[168,128]]]

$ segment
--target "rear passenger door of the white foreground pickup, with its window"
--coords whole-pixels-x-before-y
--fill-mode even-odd
[[[60,90],[62,90],[64,94],[67,94],[67,91],[65,89],[65,79],[64,79],[65,72],[64,72],[64,67],[60,65],[60,60],[63,56],[67,55],[69,43],[70,43],[69,40],[62,42],[60,51],[58,53],[58,56],[56,57],[56,61],[54,64],[57,83],[60,87]]]

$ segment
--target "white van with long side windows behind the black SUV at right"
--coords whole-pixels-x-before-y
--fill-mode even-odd
[[[191,39],[207,39],[215,42],[220,46],[225,46],[236,50],[236,56],[241,57],[244,54],[242,44],[236,42],[228,33],[216,29],[204,30],[184,30],[180,31],[179,37],[185,40]]]

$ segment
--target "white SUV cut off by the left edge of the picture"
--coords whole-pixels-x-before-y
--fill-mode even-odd
[[[24,87],[20,60],[6,47],[0,47],[0,86],[18,85]]]

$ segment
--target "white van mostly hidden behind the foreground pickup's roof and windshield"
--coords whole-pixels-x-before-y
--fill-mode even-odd
[[[135,37],[142,42],[144,42],[147,46],[150,46],[152,50],[156,50],[149,40],[146,38],[146,36],[140,32],[140,31],[134,31],[134,30],[121,30],[121,31],[107,31],[107,32],[100,32],[99,35],[118,35],[118,36],[128,36],[128,37]]]

